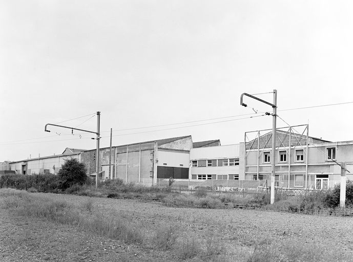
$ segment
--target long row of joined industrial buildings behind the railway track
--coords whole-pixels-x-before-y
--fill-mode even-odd
[[[299,125],[278,128],[275,144],[278,188],[327,189],[339,183],[341,175],[353,179],[353,141],[330,142],[311,137],[308,125]],[[193,142],[191,136],[183,136],[105,147],[99,149],[98,177],[143,185],[173,178],[179,185],[188,186],[197,181],[230,188],[245,184],[269,187],[271,145],[271,130],[257,130],[246,132],[244,142],[232,145],[221,145],[220,140]],[[5,161],[0,171],[57,173],[69,158],[84,163],[88,175],[96,175],[96,149],[73,148],[66,148],[60,155]]]

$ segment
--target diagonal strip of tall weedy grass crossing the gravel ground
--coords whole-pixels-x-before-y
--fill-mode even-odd
[[[175,197],[186,198],[188,195],[175,194]],[[207,196],[205,199],[210,198],[210,202],[217,200],[218,205],[222,203],[218,197]],[[191,195],[191,199],[196,202],[203,200],[195,195]],[[2,189],[0,207],[29,219],[68,225],[79,231],[119,239],[126,244],[145,246],[155,252],[172,252],[178,259],[187,261],[234,261],[230,258],[234,256],[247,262],[351,261],[345,253],[326,250],[315,243],[303,243],[300,239],[278,241],[277,238],[257,239],[243,234],[242,238],[231,240],[204,226],[200,228],[200,235],[192,235],[189,229],[181,228],[173,220],[156,220],[154,227],[146,229],[141,221],[126,220],[116,213],[107,212],[105,206],[98,205],[92,198],[80,199],[80,204],[73,204],[63,199],[53,200],[46,194]],[[30,238],[29,234],[24,235],[24,239],[27,238]],[[233,249],[225,249],[230,241]]]

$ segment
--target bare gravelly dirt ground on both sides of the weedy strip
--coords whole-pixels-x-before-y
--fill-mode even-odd
[[[46,194],[54,199],[83,203],[87,197]],[[107,214],[153,232],[161,223],[178,229],[180,237],[212,236],[221,245],[224,261],[244,261],[256,243],[315,244],[322,250],[353,257],[353,219],[261,210],[172,208],[161,203],[90,198]],[[127,245],[107,237],[79,232],[66,225],[28,219],[0,209],[1,261],[180,261],[173,250]],[[210,238],[210,237],[209,237]],[[241,252],[240,252],[241,251]],[[240,252],[240,253],[239,253]],[[315,252],[315,250],[313,250]],[[231,259],[237,253],[237,259]]]

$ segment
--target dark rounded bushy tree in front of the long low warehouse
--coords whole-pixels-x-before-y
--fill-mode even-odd
[[[77,159],[71,158],[65,160],[63,166],[58,172],[61,188],[66,189],[74,184],[84,184],[87,181],[87,168],[85,164],[80,163]]]

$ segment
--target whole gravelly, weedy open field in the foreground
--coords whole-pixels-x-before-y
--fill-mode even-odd
[[[353,261],[350,217],[13,189],[0,232],[1,261]]]

